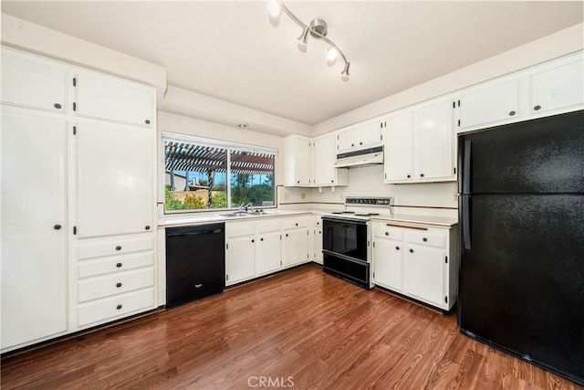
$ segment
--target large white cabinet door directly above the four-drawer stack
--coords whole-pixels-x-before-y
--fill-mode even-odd
[[[152,226],[153,129],[77,125],[78,237]]]

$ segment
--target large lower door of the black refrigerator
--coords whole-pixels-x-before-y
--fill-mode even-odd
[[[461,331],[584,385],[584,195],[465,199]]]

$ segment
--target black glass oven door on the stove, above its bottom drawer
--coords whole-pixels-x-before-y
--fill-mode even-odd
[[[323,216],[322,227],[323,253],[368,261],[367,221]]]

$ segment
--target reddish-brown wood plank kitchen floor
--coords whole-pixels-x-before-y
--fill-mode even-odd
[[[307,265],[2,361],[2,389],[574,389]]]

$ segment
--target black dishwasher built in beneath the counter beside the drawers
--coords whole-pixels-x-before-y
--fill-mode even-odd
[[[166,228],[166,307],[222,292],[225,224]]]

